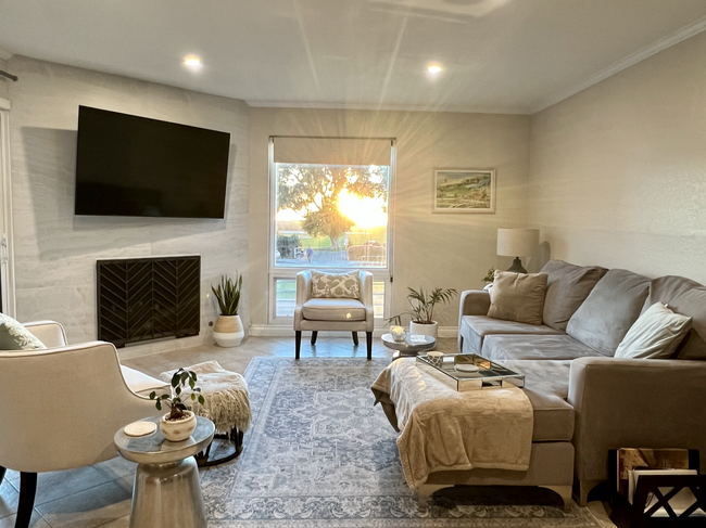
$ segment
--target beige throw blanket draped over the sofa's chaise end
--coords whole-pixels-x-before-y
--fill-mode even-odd
[[[534,417],[521,389],[457,392],[415,361],[394,361],[371,387],[376,403],[387,398],[394,403],[409,488],[417,489],[434,472],[529,467]]]

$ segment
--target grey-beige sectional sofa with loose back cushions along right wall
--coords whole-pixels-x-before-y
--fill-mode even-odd
[[[458,349],[526,375],[537,443],[569,440],[575,493],[608,478],[608,450],[689,448],[706,471],[706,287],[681,276],[550,261],[543,324],[487,315],[490,296],[461,296]],[[618,359],[616,348],[655,302],[693,318],[670,359]]]

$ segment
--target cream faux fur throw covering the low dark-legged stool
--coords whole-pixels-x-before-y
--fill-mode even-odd
[[[185,403],[199,416],[211,420],[216,429],[230,433],[232,427],[245,432],[250,427],[250,397],[245,379],[237,372],[225,370],[217,361],[206,361],[187,366],[197,373],[197,387],[206,400],[203,405],[190,398],[191,390],[187,387],[182,395]],[[160,378],[172,382],[176,370],[163,372]]]

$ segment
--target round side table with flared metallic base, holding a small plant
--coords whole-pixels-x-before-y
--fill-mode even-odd
[[[193,458],[213,440],[213,422],[197,416],[197,428],[180,442],[166,440],[159,428],[160,416],[144,418],[157,429],[148,436],[115,433],[117,451],[137,462],[130,528],[205,528],[206,514]]]

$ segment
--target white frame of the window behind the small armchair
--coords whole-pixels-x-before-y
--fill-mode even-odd
[[[291,325],[292,317],[277,317],[276,314],[276,294],[275,281],[280,279],[294,279],[297,273],[303,268],[278,267],[275,262],[275,245],[273,235],[275,232],[274,224],[277,215],[277,196],[275,194],[276,173],[275,173],[275,140],[277,138],[297,138],[297,139],[360,139],[360,140],[384,140],[390,141],[390,172],[388,175],[388,256],[386,268],[362,268],[373,273],[374,282],[384,282],[384,310],[382,318],[375,319],[375,326],[384,325],[384,320],[390,317],[390,305],[392,301],[392,284],[394,268],[394,189],[396,176],[396,139],[395,138],[351,138],[351,137],[319,137],[319,136],[270,136],[267,149],[267,167],[268,167],[268,185],[269,193],[269,224],[267,226],[267,322],[270,325]],[[331,273],[348,271],[350,268],[326,268]]]

